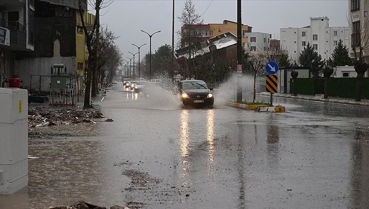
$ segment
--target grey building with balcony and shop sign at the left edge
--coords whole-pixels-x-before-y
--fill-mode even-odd
[[[0,81],[18,75],[15,56],[34,50],[34,0],[0,1]]]

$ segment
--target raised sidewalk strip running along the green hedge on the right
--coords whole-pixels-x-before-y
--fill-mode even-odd
[[[262,96],[270,96],[268,92],[261,92],[259,95]],[[303,99],[303,100],[311,100],[311,101],[319,101],[319,102],[333,102],[333,103],[341,103],[347,105],[363,105],[369,106],[369,100],[362,99],[361,102],[355,102],[355,99],[347,99],[347,98],[328,98],[324,99],[323,95],[297,95],[293,96],[289,93],[273,93],[273,97],[283,97],[290,99]]]

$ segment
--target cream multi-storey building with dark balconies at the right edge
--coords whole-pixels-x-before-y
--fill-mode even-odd
[[[354,46],[355,39],[360,41],[359,38],[361,37],[361,43],[364,43],[362,45],[368,45],[366,40],[369,39],[369,1],[348,0],[348,12],[348,19],[351,26],[349,30],[349,36],[351,37],[349,39],[350,57],[354,58],[355,54],[352,47]],[[366,63],[369,63],[369,46],[362,47],[366,48],[363,51],[363,59],[365,59]],[[368,71],[366,74],[368,74]]]

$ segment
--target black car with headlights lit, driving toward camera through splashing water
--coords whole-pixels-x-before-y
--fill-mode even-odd
[[[187,105],[213,105],[214,96],[204,81],[183,80],[178,82],[180,98],[184,106]]]

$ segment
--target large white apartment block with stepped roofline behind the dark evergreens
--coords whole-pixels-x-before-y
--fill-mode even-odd
[[[300,53],[307,43],[313,47],[322,59],[331,57],[339,39],[349,45],[349,27],[330,27],[328,17],[312,17],[310,25],[303,28],[281,28],[280,46],[289,52],[292,60],[298,63]]]

